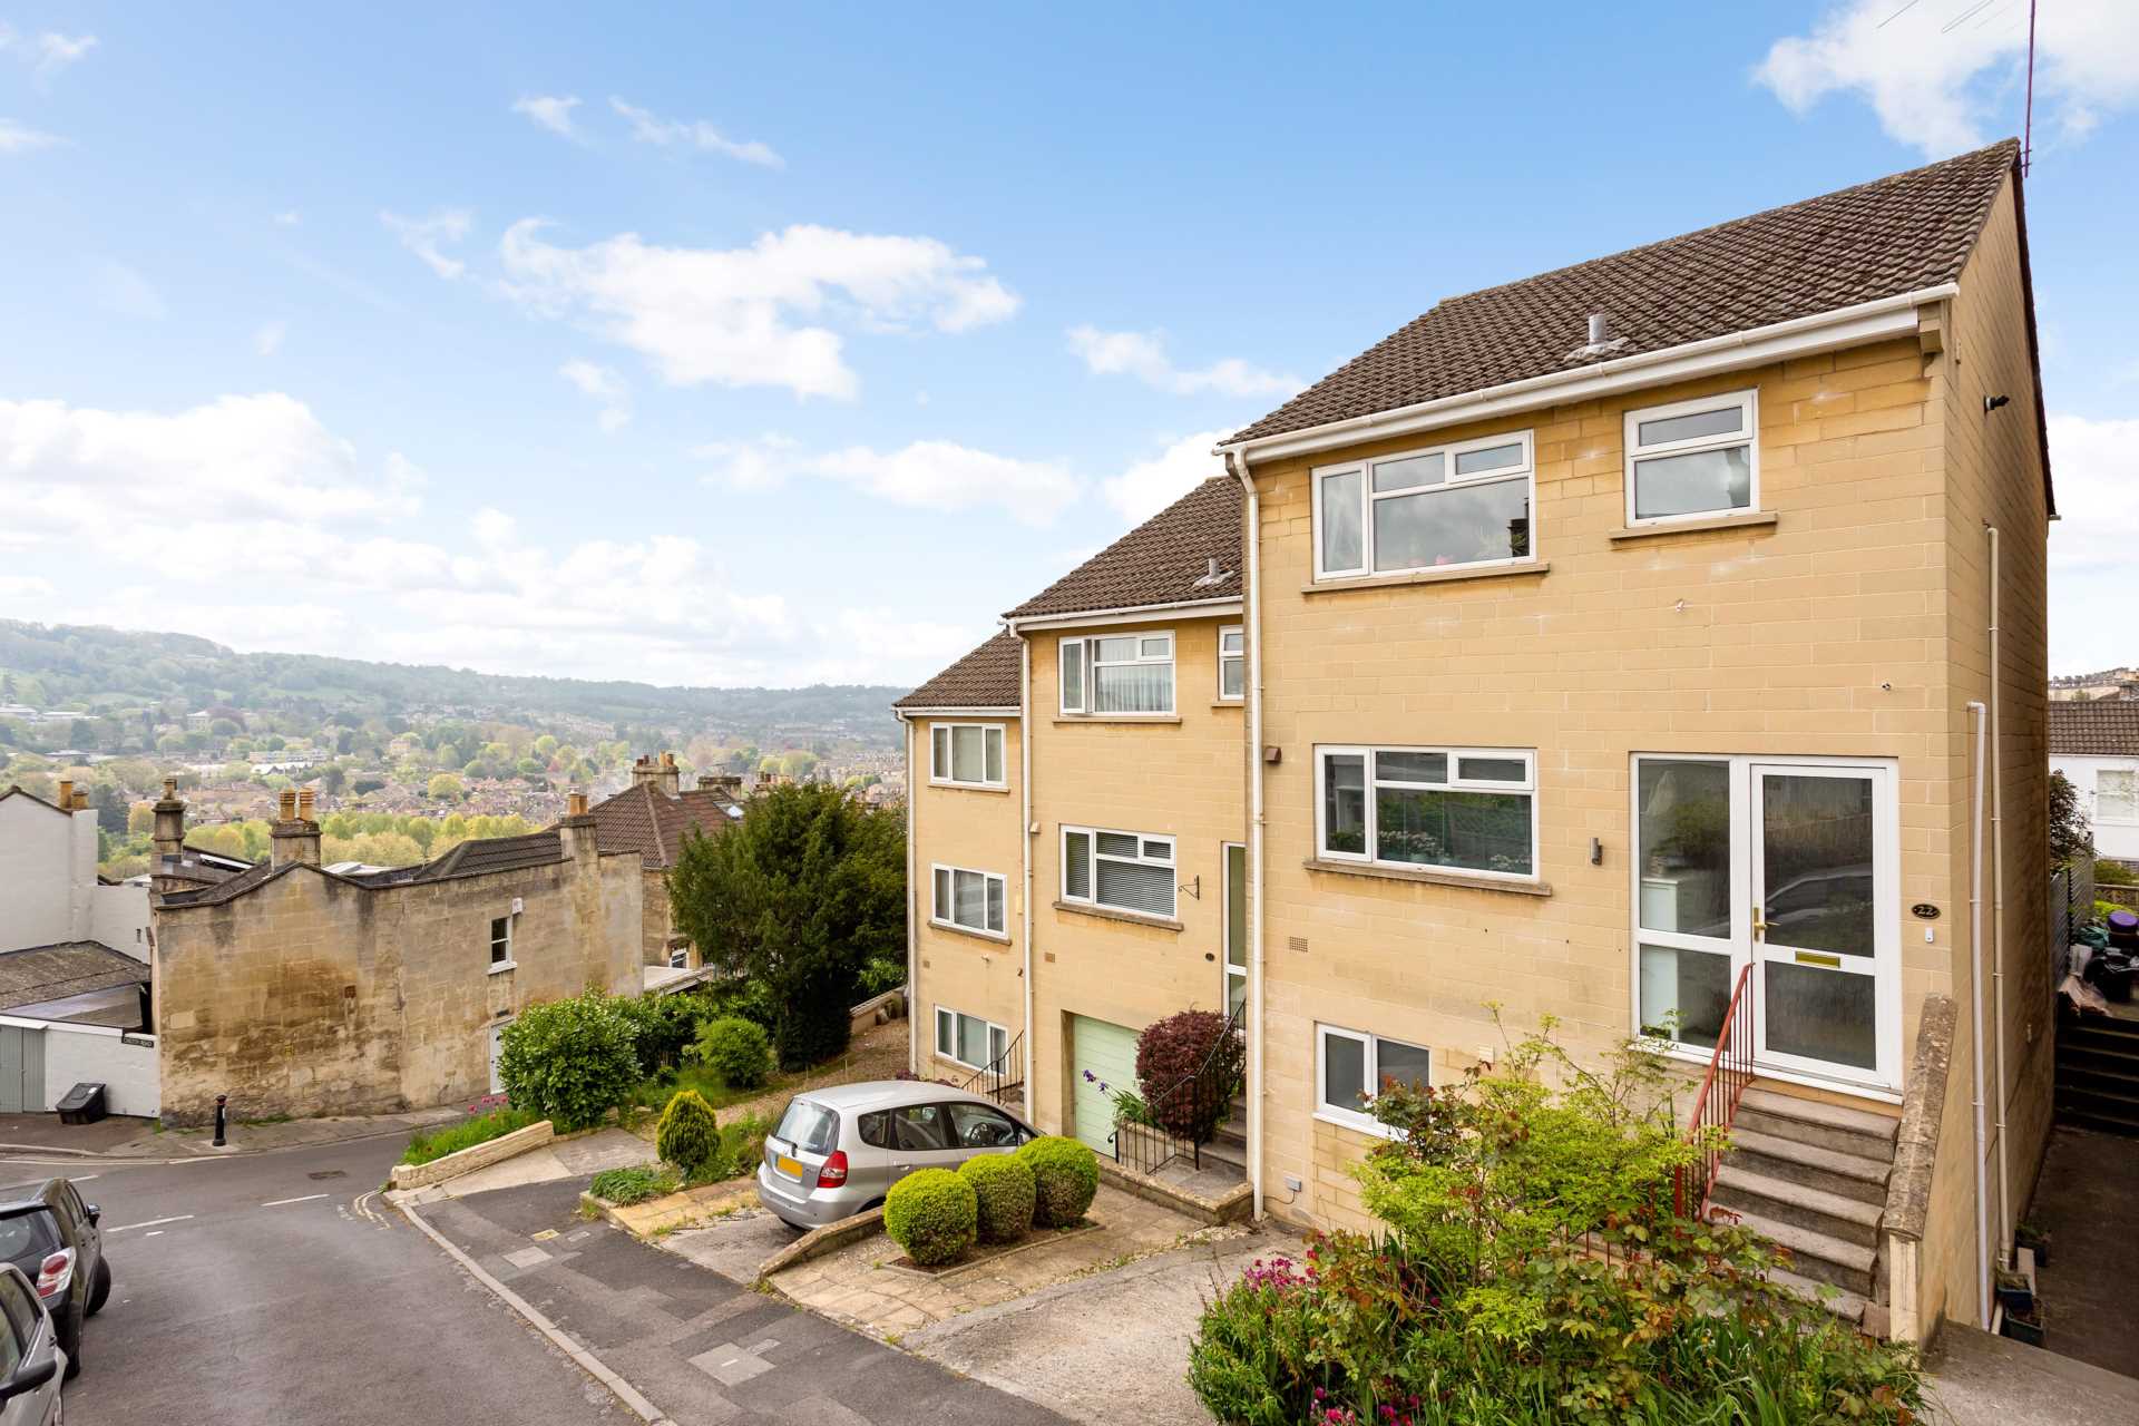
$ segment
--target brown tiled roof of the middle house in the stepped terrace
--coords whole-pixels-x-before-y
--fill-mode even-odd
[[[1213,560],[1217,577],[1211,577]],[[1005,618],[1241,599],[1241,485],[1211,477]],[[1016,701],[1016,699],[1012,699]]]

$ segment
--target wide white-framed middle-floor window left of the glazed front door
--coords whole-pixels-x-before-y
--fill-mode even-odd
[[[1536,753],[1315,748],[1315,849],[1333,862],[1529,879]]]

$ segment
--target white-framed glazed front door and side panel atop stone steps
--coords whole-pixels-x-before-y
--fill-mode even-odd
[[[1760,1067],[1899,1084],[1893,768],[1636,757],[1636,1026],[1707,1054],[1739,975]]]

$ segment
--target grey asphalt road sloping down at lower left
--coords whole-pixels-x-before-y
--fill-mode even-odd
[[[637,1426],[376,1204],[400,1148],[396,1135],[175,1165],[0,1163],[0,1182],[64,1172],[103,1208],[111,1300],[83,1332],[66,1420]]]

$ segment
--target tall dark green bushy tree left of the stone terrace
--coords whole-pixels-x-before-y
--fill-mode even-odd
[[[905,939],[905,825],[834,787],[776,787],[670,872],[676,930],[766,986],[783,1069],[847,1048],[862,966]]]

